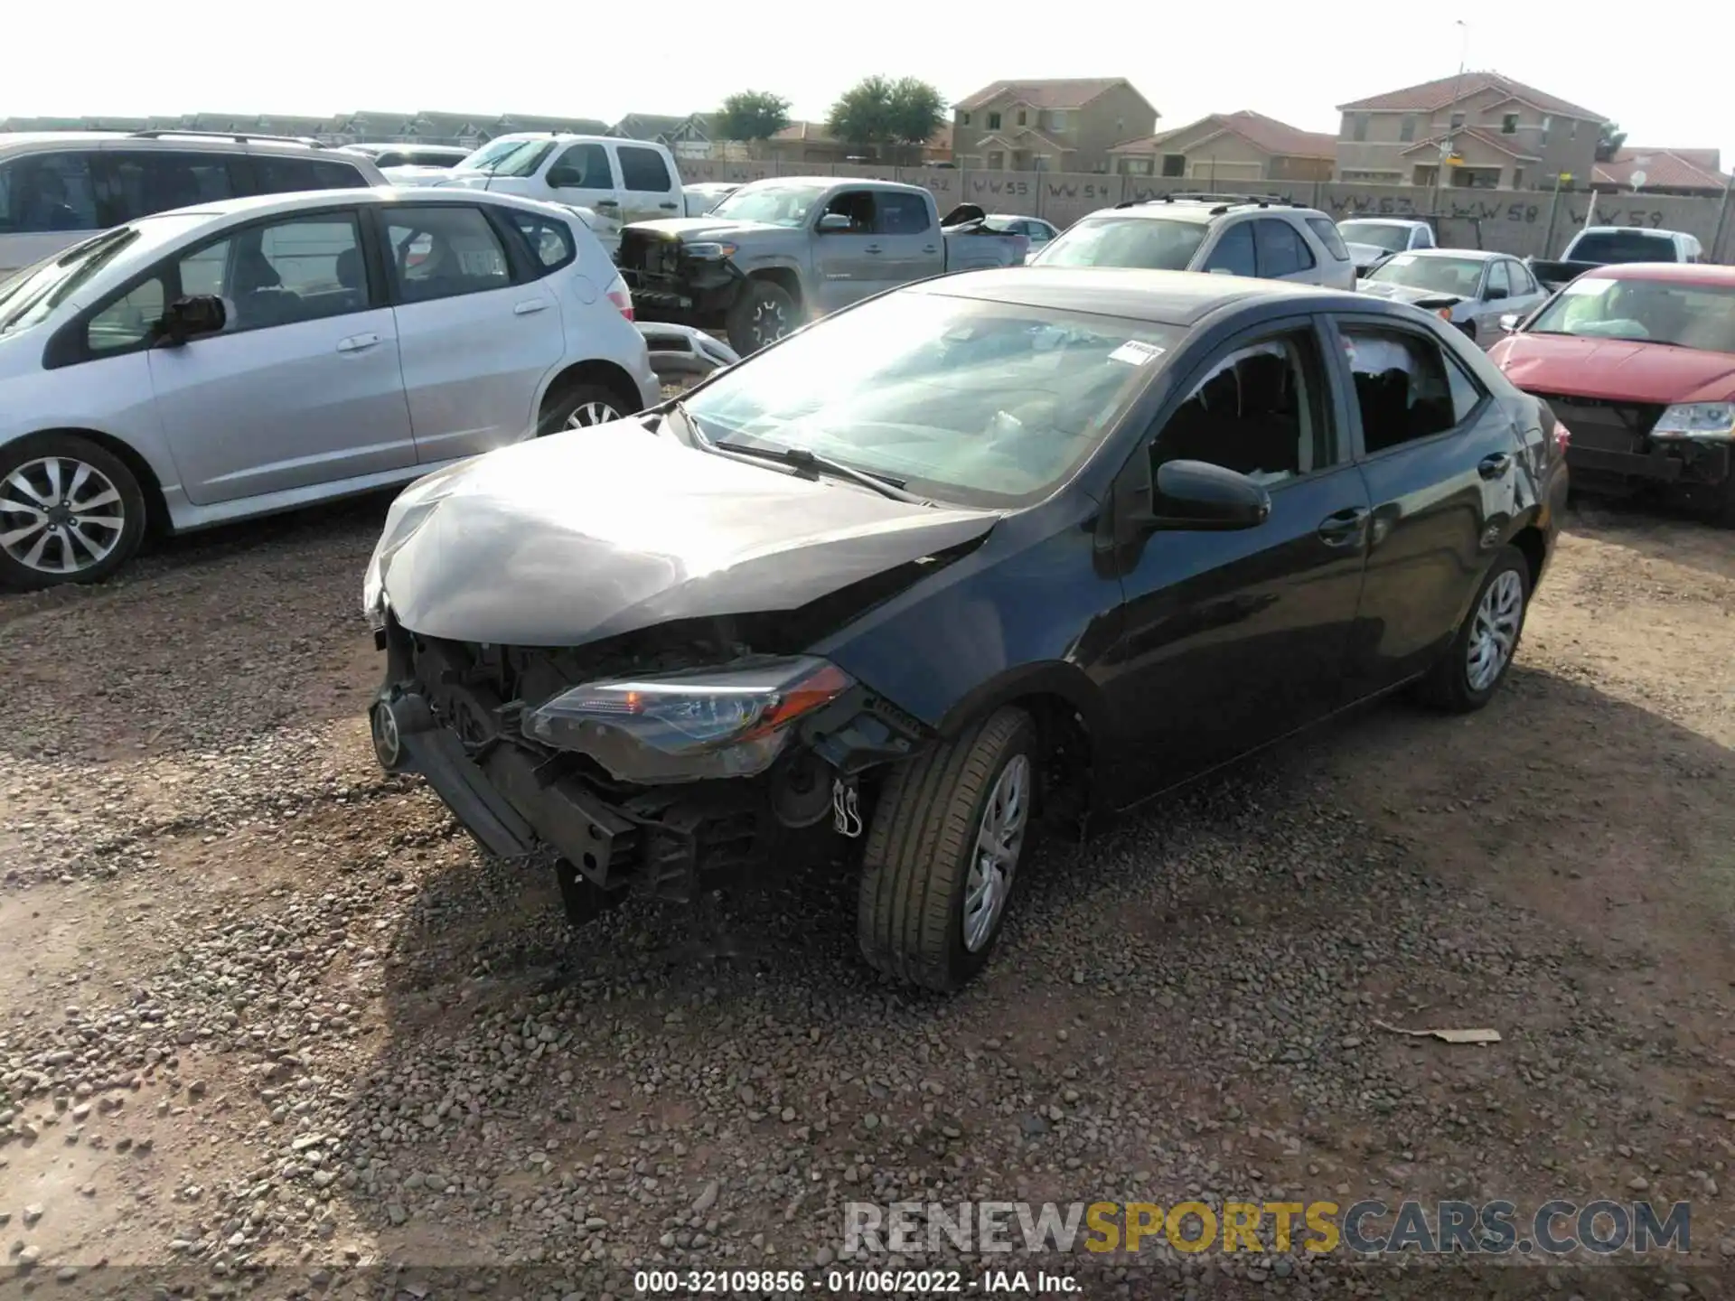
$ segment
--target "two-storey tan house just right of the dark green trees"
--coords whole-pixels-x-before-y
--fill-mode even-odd
[[[1161,114],[1124,76],[994,82],[953,108],[953,158],[987,172],[1107,172]]]

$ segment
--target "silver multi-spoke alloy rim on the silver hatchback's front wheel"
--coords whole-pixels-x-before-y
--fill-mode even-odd
[[[76,456],[38,456],[0,479],[0,550],[38,574],[102,564],[127,531],[127,503]]]

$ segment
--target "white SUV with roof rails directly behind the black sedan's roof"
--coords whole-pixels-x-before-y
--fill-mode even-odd
[[[1166,194],[1083,217],[1032,267],[1142,267],[1355,288],[1355,262],[1331,219],[1261,194]]]

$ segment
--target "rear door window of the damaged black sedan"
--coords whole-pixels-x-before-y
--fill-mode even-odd
[[[1476,383],[1440,345],[1407,330],[1345,326],[1367,454],[1445,434],[1482,401]]]

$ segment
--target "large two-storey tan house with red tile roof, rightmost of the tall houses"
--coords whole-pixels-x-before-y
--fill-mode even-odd
[[[1499,73],[1466,71],[1339,104],[1338,180],[1383,186],[1586,186],[1608,120]]]

